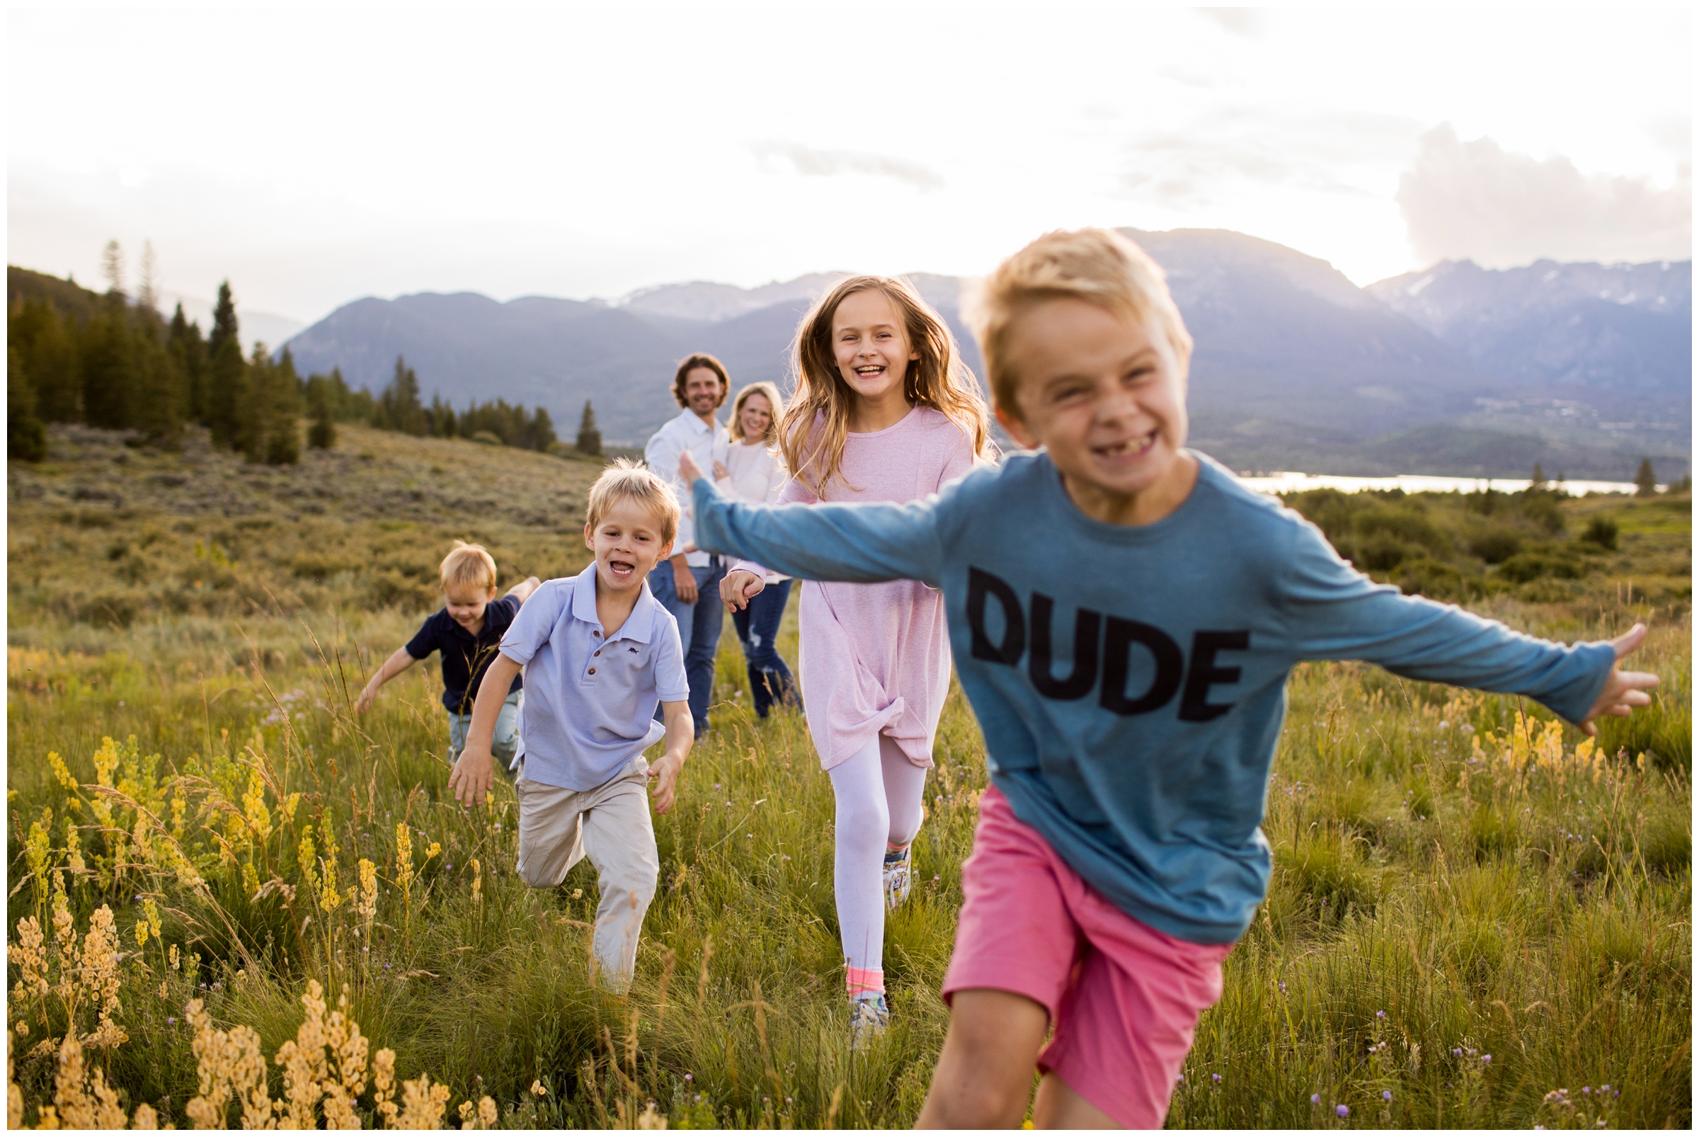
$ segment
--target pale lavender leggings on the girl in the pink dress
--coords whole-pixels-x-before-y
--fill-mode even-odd
[[[880,734],[829,775],[838,797],[833,872],[850,993],[883,991],[885,848],[902,848],[919,833],[926,770]]]

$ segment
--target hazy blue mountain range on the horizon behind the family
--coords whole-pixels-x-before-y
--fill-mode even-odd
[[[1237,469],[1631,478],[1687,472],[1692,262],[1487,270],[1446,262],[1354,286],[1332,265],[1225,229],[1125,229],[1167,272],[1196,342],[1193,444]],[[618,301],[418,294],[345,304],[289,340],[302,372],[374,391],[398,355],[455,404],[542,404],[571,435],[641,442],[676,413],[675,364],[712,352],[734,384],[783,386],[802,313],[846,274],[758,289],[688,282]],[[914,274],[975,374],[970,280]]]

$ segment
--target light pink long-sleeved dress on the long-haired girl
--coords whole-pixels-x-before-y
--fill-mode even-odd
[[[827,501],[914,501],[974,466],[968,437],[946,415],[916,406],[902,421],[844,442],[843,474]],[[778,505],[819,501],[792,478]],[[766,576],[759,564],[734,569]],[[912,580],[882,585],[802,581],[799,680],[809,733],[831,770],[878,734],[917,766],[933,765],[933,736],[950,693],[945,597]]]

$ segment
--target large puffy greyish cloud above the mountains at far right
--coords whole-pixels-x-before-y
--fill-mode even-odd
[[[1650,178],[1585,175],[1568,158],[1458,139],[1451,124],[1422,136],[1398,180],[1410,248],[1424,263],[1470,258],[1488,269],[1553,260],[1692,257],[1692,167],[1668,187]]]

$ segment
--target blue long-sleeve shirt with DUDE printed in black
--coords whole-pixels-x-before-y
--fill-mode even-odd
[[[1186,501],[1137,527],[1086,517],[1041,452],[909,505],[756,506],[698,479],[697,544],[805,580],[941,588],[1014,814],[1133,918],[1230,943],[1267,892],[1259,826],[1298,661],[1522,693],[1575,722],[1616,656],[1376,585],[1196,457]]]

